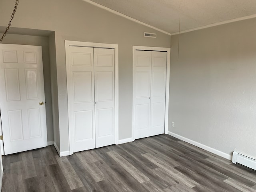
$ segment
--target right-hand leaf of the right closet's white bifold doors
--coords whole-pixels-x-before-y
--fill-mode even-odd
[[[150,136],[164,134],[167,52],[152,52]]]

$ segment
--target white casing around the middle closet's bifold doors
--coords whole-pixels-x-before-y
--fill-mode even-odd
[[[66,52],[66,66],[69,64],[68,48],[69,46],[82,46],[82,47],[92,47],[92,48],[110,48],[114,49],[115,54],[115,144],[118,144],[118,44],[105,44],[105,43],[94,43],[94,42],[81,42],[81,41],[69,41],[65,40],[65,52]],[[68,73],[67,73],[68,74]],[[68,90],[68,86],[67,86]],[[70,104],[68,104],[68,108]],[[74,153],[73,150],[73,138],[74,130],[71,129],[72,125],[68,121],[68,133],[69,133],[69,152],[70,155]]]

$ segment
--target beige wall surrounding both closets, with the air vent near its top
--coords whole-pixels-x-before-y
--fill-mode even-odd
[[[0,1],[0,26],[5,26],[8,22],[13,6],[12,1]],[[82,0],[23,0],[18,5],[12,26],[55,31],[58,87],[53,85],[54,80],[52,94],[53,106],[58,105],[55,110],[59,116],[58,120],[54,120],[54,134],[59,135],[54,137],[56,142],[59,137],[60,144],[57,145],[61,152],[69,150],[64,40],[118,44],[119,139],[132,137],[132,46],[170,47],[170,36]],[[144,38],[144,32],[156,32],[157,38]],[[50,55],[54,55],[52,51]],[[54,99],[56,94],[57,101]],[[54,112],[54,115],[57,114]],[[56,127],[58,123],[59,128]]]

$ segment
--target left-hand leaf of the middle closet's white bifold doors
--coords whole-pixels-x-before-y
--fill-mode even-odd
[[[95,148],[93,48],[69,46],[68,63],[69,128],[77,152]]]

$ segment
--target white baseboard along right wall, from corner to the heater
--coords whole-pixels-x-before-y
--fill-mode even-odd
[[[185,141],[185,142],[190,143],[190,144],[192,144],[192,145],[194,145],[194,146],[197,146],[197,147],[199,147],[199,148],[202,148],[202,149],[204,149],[204,150],[206,150],[206,151],[209,151],[209,152],[211,152],[211,153],[214,153],[214,154],[216,154],[216,155],[218,155],[218,156],[221,156],[221,157],[223,157],[223,158],[225,158],[225,159],[232,160],[232,156],[229,155],[229,154],[226,154],[226,153],[224,153],[224,152],[221,152],[221,151],[219,151],[219,150],[216,150],[216,149],[211,148],[211,147],[209,147],[209,146],[206,146],[206,145],[204,145],[204,144],[198,143],[198,142],[193,141],[193,140],[191,140],[191,139],[188,139],[188,138],[186,138],[186,137],[180,136],[180,135],[178,135],[178,134],[176,134],[176,133],[173,133],[173,132],[168,131],[168,135],[173,136],[173,137],[176,137],[176,138],[178,138],[178,139],[180,139],[180,140],[182,140],[182,141]]]

